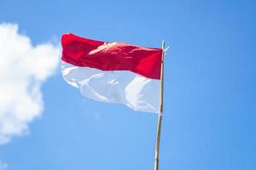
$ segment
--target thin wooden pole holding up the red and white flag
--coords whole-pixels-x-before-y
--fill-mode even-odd
[[[157,135],[155,143],[155,153],[154,153],[154,170],[159,170],[159,150],[160,150],[160,134],[161,134],[161,124],[163,118],[163,99],[164,99],[164,55],[165,55],[165,42],[162,41],[162,59],[161,59],[161,75],[160,75],[160,113],[158,115],[157,122]]]

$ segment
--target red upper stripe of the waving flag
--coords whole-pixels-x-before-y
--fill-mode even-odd
[[[133,71],[143,77],[160,79],[161,48],[143,48],[124,42],[100,42],[64,34],[62,60],[102,71]]]

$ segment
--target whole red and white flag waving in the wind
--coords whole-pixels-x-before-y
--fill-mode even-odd
[[[160,112],[161,48],[100,42],[64,34],[61,71],[87,98]]]

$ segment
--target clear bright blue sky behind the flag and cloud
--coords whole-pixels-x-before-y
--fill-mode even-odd
[[[0,22],[18,24],[34,45],[66,32],[146,47],[164,39],[160,170],[253,170],[255,8],[253,0],[1,0]],[[60,68],[41,90],[42,116],[0,145],[7,169],[153,169],[157,115],[85,99]]]

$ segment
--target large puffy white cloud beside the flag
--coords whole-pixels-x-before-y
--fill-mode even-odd
[[[59,55],[50,42],[32,46],[16,24],[0,24],[0,144],[27,133],[41,115],[41,84],[55,72]]]

